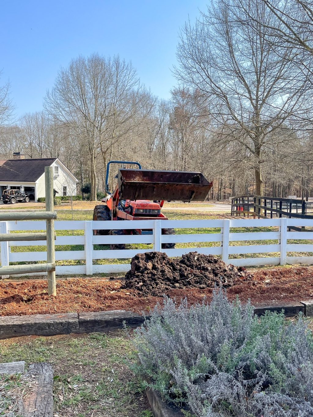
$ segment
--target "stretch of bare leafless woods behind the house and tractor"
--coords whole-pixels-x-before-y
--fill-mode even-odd
[[[111,159],[201,171],[218,200],[313,196],[312,10],[297,0],[218,0],[182,28],[170,100],[119,56],[73,59],[43,110],[18,121],[5,84],[0,159],[58,157],[91,183],[91,199]]]

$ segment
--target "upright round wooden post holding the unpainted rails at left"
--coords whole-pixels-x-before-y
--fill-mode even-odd
[[[45,166],[45,210],[53,211],[53,168]],[[54,220],[47,224],[47,264],[55,264]],[[48,295],[56,295],[56,271],[48,271]]]

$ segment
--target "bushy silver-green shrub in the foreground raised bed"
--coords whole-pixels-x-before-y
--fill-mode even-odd
[[[210,304],[157,306],[135,331],[138,372],[199,417],[313,416],[313,337],[303,319],[258,319],[216,291]]]

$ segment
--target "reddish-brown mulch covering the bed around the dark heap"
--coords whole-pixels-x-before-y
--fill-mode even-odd
[[[313,267],[275,268],[242,277],[227,289],[229,299],[237,295],[252,304],[286,304],[313,299]],[[122,280],[71,278],[57,281],[57,296],[48,296],[47,281],[0,282],[0,315],[51,314],[73,311],[149,311],[162,297],[141,297],[136,290],[120,289]],[[167,295],[190,304],[209,300],[212,288],[171,289]]]

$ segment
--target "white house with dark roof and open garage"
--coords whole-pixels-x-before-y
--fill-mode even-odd
[[[0,198],[5,188],[20,189],[35,201],[45,197],[45,166],[53,167],[57,196],[76,196],[78,180],[58,158],[24,159],[19,152],[13,157],[0,161]]]

